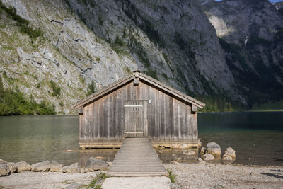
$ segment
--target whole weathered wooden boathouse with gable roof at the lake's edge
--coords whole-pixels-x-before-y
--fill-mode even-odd
[[[134,71],[74,104],[79,147],[120,148],[125,137],[148,137],[153,147],[200,147],[197,108],[204,103]]]

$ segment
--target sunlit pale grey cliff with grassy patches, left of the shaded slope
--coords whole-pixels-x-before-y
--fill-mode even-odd
[[[0,70],[6,88],[18,86],[35,101],[49,101],[57,112],[69,113],[71,104],[86,96],[91,81],[100,88],[137,69],[132,57],[117,55],[65,1],[2,2],[43,34],[28,36],[1,8]],[[51,82],[61,88],[59,95],[52,95]]]

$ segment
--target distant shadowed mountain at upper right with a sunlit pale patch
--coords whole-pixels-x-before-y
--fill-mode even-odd
[[[201,0],[226,62],[249,102],[279,100],[283,88],[283,20],[267,0]]]

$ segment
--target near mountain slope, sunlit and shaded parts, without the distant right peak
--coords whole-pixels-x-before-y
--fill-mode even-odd
[[[30,38],[1,10],[2,36],[13,33],[1,44],[4,86],[50,101],[57,112],[69,113],[92,81],[100,88],[134,69],[190,94],[232,91],[241,98],[215,30],[194,1],[1,1],[42,31]]]

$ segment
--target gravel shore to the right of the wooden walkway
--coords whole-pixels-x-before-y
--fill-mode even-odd
[[[166,164],[181,188],[283,188],[282,166]]]

